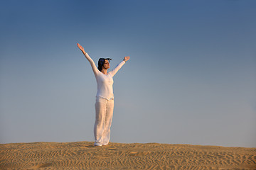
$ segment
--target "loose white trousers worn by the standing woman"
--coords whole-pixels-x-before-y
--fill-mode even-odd
[[[95,103],[95,145],[107,145],[110,142],[110,127],[114,111],[114,99],[97,97]]]

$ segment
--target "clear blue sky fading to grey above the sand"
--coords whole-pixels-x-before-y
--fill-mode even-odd
[[[8,1],[0,6],[0,142],[93,141],[111,57],[110,142],[256,147],[255,1]]]

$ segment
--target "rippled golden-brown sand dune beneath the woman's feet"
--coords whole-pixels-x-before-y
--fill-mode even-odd
[[[0,145],[0,169],[256,169],[256,148],[33,142]]]

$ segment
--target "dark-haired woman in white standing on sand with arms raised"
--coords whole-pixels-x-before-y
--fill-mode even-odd
[[[112,115],[114,110],[114,94],[113,94],[113,77],[114,74],[129,60],[129,56],[124,57],[111,72],[107,72],[110,68],[110,58],[100,58],[98,67],[93,60],[85,52],[84,48],[78,44],[79,49],[85,55],[92,66],[97,81],[97,95],[95,103],[95,146],[108,145],[110,142],[110,127],[112,123]]]

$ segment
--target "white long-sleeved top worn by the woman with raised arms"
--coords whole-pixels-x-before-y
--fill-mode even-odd
[[[85,57],[90,62],[90,65],[92,66],[92,71],[95,74],[95,78],[97,81],[97,95],[96,97],[102,97],[106,98],[107,100],[110,100],[114,98],[113,94],[113,77],[114,74],[117,73],[119,69],[124,65],[124,61],[120,62],[111,72],[108,72],[107,74],[103,74],[100,72],[100,70],[97,69],[95,62],[90,58],[90,56],[85,53]]]

